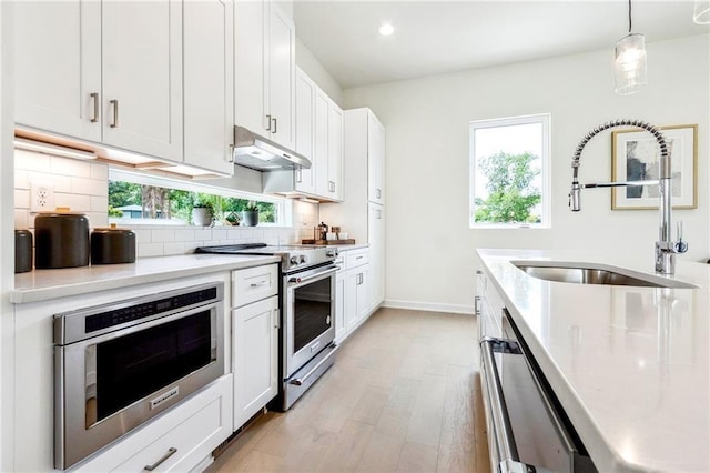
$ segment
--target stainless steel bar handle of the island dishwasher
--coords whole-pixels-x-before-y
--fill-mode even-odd
[[[498,471],[500,473],[526,473],[535,471],[537,473],[547,473],[550,470],[540,466],[527,465],[520,462],[518,449],[513,436],[513,427],[510,425],[510,416],[506,406],[500,376],[496,365],[494,352],[503,352],[506,356],[519,356],[517,344],[513,350],[507,340],[484,338],[480,341],[480,354],[483,361],[483,373],[485,378],[487,392],[484,393],[490,404],[490,417],[493,422],[494,435],[496,437],[498,449]],[[495,446],[494,446],[495,447]]]

